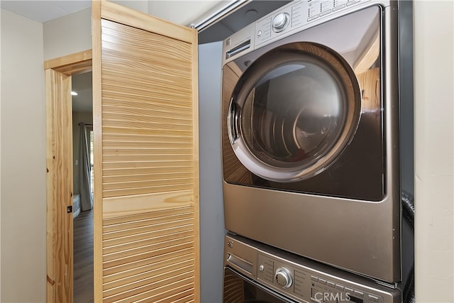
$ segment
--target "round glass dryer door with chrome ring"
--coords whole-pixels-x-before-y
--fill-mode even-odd
[[[358,81],[340,55],[315,43],[290,43],[259,57],[240,77],[228,136],[250,172],[295,182],[336,160],[360,109]]]

